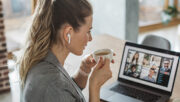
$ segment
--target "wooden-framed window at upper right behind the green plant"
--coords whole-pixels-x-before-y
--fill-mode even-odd
[[[180,14],[169,20],[163,13],[169,6],[174,6],[180,12],[180,0],[139,0],[139,6],[140,33],[180,23]]]

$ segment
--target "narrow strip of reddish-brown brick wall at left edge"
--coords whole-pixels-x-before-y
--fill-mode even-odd
[[[4,34],[4,19],[2,13],[2,2],[0,0],[0,93],[9,91],[9,77],[7,65],[7,49]]]

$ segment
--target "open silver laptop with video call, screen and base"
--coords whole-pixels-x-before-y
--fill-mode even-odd
[[[103,87],[108,102],[166,102],[173,92],[180,53],[126,42],[118,80]]]

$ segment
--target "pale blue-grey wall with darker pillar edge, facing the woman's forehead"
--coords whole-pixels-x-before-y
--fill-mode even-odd
[[[90,0],[93,14],[92,34],[110,34],[136,42],[138,35],[138,0]]]

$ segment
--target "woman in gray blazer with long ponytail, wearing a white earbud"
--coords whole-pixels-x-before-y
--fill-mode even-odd
[[[63,68],[69,53],[82,55],[92,40],[92,8],[87,0],[37,0],[29,39],[20,60],[24,102],[84,102],[81,89],[88,75],[89,101],[99,102],[100,87],[112,77],[109,59],[86,57],[70,78]]]

